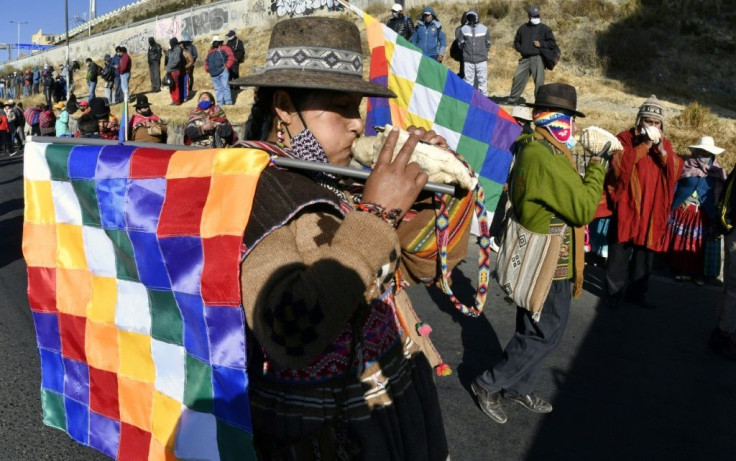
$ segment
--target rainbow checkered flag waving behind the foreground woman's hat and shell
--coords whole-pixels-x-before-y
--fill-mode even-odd
[[[365,21],[371,48],[370,80],[395,99],[370,98],[366,134],[390,123],[435,130],[480,176],[488,210],[496,203],[511,166],[509,148],[521,127],[493,101],[374,17],[350,6]]]

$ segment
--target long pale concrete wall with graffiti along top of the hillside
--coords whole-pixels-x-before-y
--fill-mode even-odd
[[[388,9],[395,2],[353,0],[351,3],[358,8],[365,8],[369,4],[385,4]],[[426,4],[422,0],[404,0],[403,3],[406,8]],[[129,53],[140,53],[148,48],[148,37],[155,37],[167,49],[169,38],[174,36],[181,38],[182,35],[189,35],[197,39],[214,34],[224,35],[230,29],[239,30],[276,22],[285,17],[314,14],[335,5],[336,0],[224,0],[71,42],[69,60],[76,59],[83,65],[84,60],[90,57],[99,63],[106,53],[112,54],[117,45],[127,47]],[[62,45],[19,60],[8,61],[6,65],[27,69],[50,64],[58,68],[65,58],[66,47]]]

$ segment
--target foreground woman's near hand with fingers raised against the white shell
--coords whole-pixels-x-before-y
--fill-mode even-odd
[[[409,133],[409,139],[391,161],[399,139],[399,130],[397,128],[391,130],[363,190],[364,202],[375,203],[386,210],[398,208],[401,210],[399,219],[411,208],[427,183],[427,174],[419,170],[419,165],[409,163],[414,148],[420,139],[428,139],[426,142],[432,140],[439,142],[436,139],[437,135],[432,131],[410,129]]]

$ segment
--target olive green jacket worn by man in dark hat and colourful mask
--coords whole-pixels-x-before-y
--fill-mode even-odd
[[[590,163],[582,178],[565,153],[540,133],[523,134],[511,173],[511,200],[519,223],[532,232],[547,234],[550,225],[564,222],[571,227],[588,224],[603,193],[605,168]],[[573,242],[573,245],[584,242]],[[560,263],[572,275],[574,247],[569,229],[560,250]],[[564,261],[562,261],[564,259]]]

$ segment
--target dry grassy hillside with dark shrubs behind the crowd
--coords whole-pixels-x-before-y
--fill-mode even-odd
[[[190,2],[191,3],[191,2]],[[203,3],[203,2],[197,2]],[[204,2],[209,3],[209,2]],[[542,21],[555,32],[562,60],[547,82],[565,82],[578,89],[578,108],[587,117],[579,119],[582,127],[597,125],[618,132],[634,123],[636,111],[650,94],[665,101],[667,135],[677,151],[687,154],[687,145],[702,135],[711,135],[716,144],[726,147],[722,163],[736,164],[736,48],[733,24],[736,12],[726,8],[721,0],[540,0]],[[186,5],[185,5],[186,4]],[[454,29],[464,11],[476,9],[481,21],[492,32],[489,56],[489,94],[494,100],[508,95],[518,54],[513,49],[513,37],[526,21],[526,2],[516,0],[486,0],[479,2],[430,2],[442,19],[448,47]],[[182,6],[179,0],[155,0],[146,11],[119,18],[114,27],[130,24],[143,14],[161,14]],[[389,16],[382,5],[367,8],[381,20]],[[412,18],[419,8],[407,10]],[[323,14],[328,14],[327,12]],[[334,14],[334,13],[333,13]],[[349,12],[339,16],[362,21]],[[273,16],[272,23],[277,21]],[[272,24],[269,24],[269,26]],[[222,31],[225,33],[226,31]],[[241,75],[263,66],[270,27],[238,30],[246,42],[247,59]],[[201,58],[195,71],[195,90],[212,91],[209,76],[204,72],[203,55],[209,48],[208,39],[195,42]],[[162,43],[166,48],[166,44]],[[113,45],[111,44],[111,52]],[[364,48],[367,55],[367,47]],[[134,71],[131,94],[150,89],[145,56],[133,56]],[[458,70],[458,63],[449,59],[445,64]],[[368,66],[365,66],[366,73]],[[83,79],[77,73],[77,79]],[[533,84],[529,82],[524,97],[533,101]],[[85,91],[78,91],[84,96]],[[181,107],[169,106],[168,93],[149,94],[154,111],[172,124],[181,124],[195,101]],[[228,117],[236,124],[247,119],[252,90],[241,92],[233,107],[226,107]],[[120,106],[113,112],[120,111]]]

